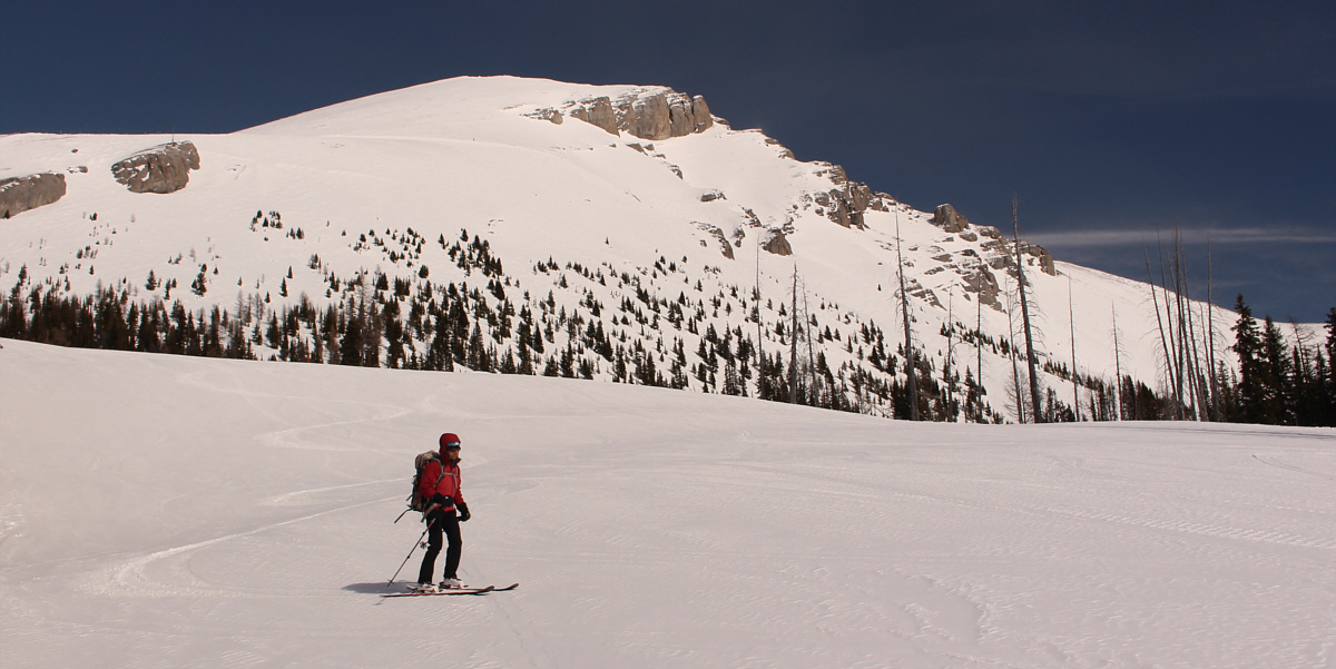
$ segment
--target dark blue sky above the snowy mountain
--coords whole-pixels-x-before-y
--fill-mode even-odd
[[[926,5],[926,7],[921,7]],[[460,75],[664,84],[922,210],[1336,306],[1336,3],[7,3],[0,134],[230,132]],[[1204,280],[1197,280],[1204,291]],[[1204,296],[1204,292],[1202,292]]]

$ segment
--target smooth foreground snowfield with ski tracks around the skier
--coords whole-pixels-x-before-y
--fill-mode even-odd
[[[0,379],[5,669],[1336,664],[1332,430],[13,341]],[[521,586],[382,600],[444,430],[461,576]]]

